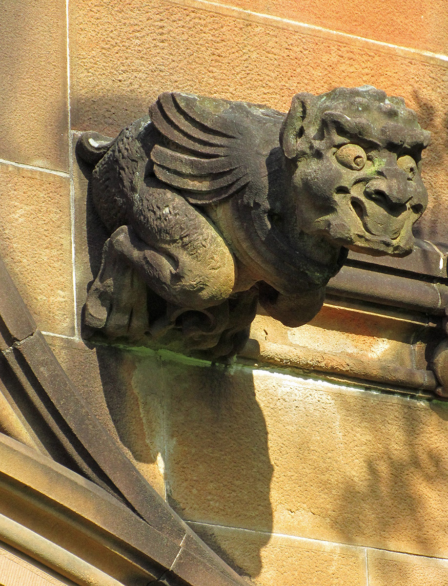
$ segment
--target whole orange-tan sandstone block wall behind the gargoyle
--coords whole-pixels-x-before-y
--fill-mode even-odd
[[[277,343],[275,356],[227,368],[88,348],[80,313],[101,227],[73,154],[78,132],[114,136],[165,90],[286,111],[297,91],[372,84],[403,96],[432,131],[430,205],[416,231],[443,243],[444,1],[6,0],[0,22],[0,253],[152,486],[255,584],[448,585],[447,404],[285,366],[294,344],[399,362],[417,318],[357,312],[348,327],[350,308],[330,304],[288,330],[260,316],[252,338]]]

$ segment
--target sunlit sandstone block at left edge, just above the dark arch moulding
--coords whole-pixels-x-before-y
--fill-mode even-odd
[[[69,179],[0,165],[0,253],[43,331],[74,333]]]

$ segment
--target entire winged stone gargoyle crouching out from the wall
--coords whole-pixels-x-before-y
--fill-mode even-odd
[[[217,359],[244,346],[257,301],[303,325],[347,249],[412,251],[428,141],[402,98],[370,86],[297,94],[286,115],[163,93],[116,139],[86,132],[77,153],[111,234],[87,333],[176,333]]]

